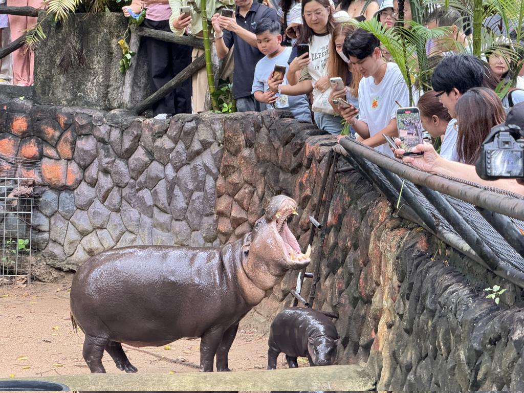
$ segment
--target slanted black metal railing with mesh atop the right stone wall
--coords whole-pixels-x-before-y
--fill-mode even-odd
[[[423,172],[353,139],[340,143],[390,202],[400,198],[400,215],[524,288],[524,196]]]

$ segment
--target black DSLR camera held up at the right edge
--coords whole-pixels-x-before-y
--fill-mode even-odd
[[[524,131],[513,124],[493,127],[475,169],[484,180],[524,179]]]

